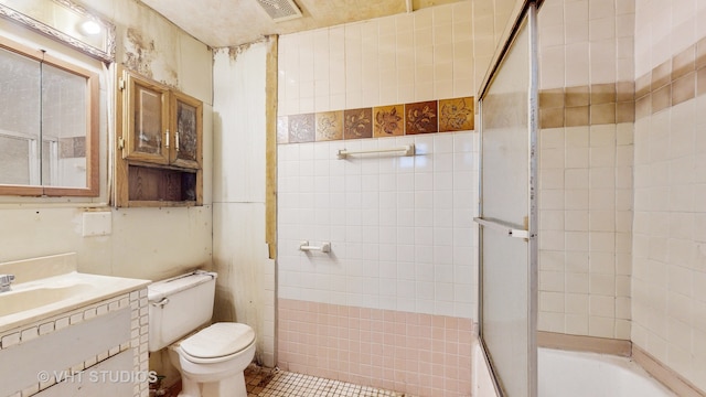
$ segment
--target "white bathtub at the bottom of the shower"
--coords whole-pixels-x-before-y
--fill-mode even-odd
[[[539,348],[541,397],[675,397],[628,357]]]

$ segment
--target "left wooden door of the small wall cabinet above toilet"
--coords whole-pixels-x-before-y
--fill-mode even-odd
[[[126,137],[122,158],[169,164],[169,89],[125,74]]]

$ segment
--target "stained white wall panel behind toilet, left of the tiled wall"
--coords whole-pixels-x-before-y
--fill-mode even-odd
[[[214,60],[215,319],[256,331],[275,365],[275,261],[265,243],[266,71],[270,42],[220,49]]]

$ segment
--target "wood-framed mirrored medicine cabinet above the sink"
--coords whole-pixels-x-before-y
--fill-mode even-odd
[[[0,194],[97,195],[97,98],[95,73],[0,37]]]

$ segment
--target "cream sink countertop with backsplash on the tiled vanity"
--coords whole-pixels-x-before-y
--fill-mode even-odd
[[[0,292],[0,333],[151,282],[78,272],[73,253],[0,264],[0,273],[15,276],[11,290]]]

